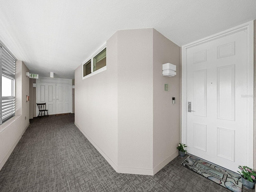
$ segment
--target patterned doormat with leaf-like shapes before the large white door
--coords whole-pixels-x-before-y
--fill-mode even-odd
[[[181,165],[233,192],[242,192],[240,174],[192,155],[188,155]]]

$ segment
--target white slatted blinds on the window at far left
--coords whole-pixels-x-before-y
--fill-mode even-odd
[[[1,72],[1,84],[0,84],[0,124],[8,118],[15,115],[15,95],[14,95],[14,80],[15,80],[15,59],[0,46],[0,72]],[[12,83],[4,84],[2,77],[8,78]],[[7,87],[6,87],[7,86]],[[2,96],[3,89],[8,88],[12,91],[8,96]]]

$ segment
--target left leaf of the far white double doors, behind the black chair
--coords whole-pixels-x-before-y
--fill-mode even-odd
[[[46,109],[48,114],[55,114],[55,94],[56,94],[56,84],[49,83],[38,83],[38,96],[37,103],[46,103]],[[37,110],[38,115],[38,110]]]

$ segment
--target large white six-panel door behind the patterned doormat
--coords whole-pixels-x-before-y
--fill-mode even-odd
[[[186,48],[187,151],[233,171],[253,164],[248,47],[237,30]]]

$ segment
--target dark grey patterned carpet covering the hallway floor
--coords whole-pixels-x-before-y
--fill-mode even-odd
[[[34,118],[0,171],[0,192],[230,192],[181,166],[185,158],[154,176],[119,174],[74,125],[73,114]]]

